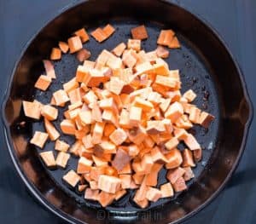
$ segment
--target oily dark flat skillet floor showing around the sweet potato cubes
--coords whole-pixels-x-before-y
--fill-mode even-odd
[[[99,55],[102,49],[113,49],[118,43],[124,42],[126,43],[128,38],[131,37],[131,28],[140,25],[137,21],[131,21],[127,23],[124,20],[113,20],[110,23],[116,27],[116,32],[114,32],[113,36],[110,37],[107,41],[103,43],[96,43],[96,40],[90,37],[90,42],[84,43],[84,48],[89,49],[91,52],[90,60],[96,60],[96,56]],[[102,24],[104,26],[106,24]],[[148,22],[145,24],[148,30],[148,39],[143,41],[142,49],[145,51],[154,50],[156,45],[157,37],[160,33],[160,30],[163,28],[160,24],[154,24]],[[96,28],[96,27],[93,27]],[[89,29],[89,32],[92,29]],[[168,27],[166,27],[168,28]],[[172,27],[171,27],[172,28]],[[170,69],[179,69],[180,76],[182,80],[182,90],[184,93],[187,89],[193,89],[197,95],[195,100],[195,105],[199,108],[212,113],[216,119],[211,124],[210,129],[204,129],[195,125],[193,129],[191,129],[191,133],[195,135],[196,139],[199,141],[201,146],[204,148],[202,160],[195,167],[195,178],[188,182],[188,185],[191,185],[194,181],[200,178],[201,173],[204,169],[207,169],[207,163],[209,162],[209,158],[212,157],[212,152],[218,142],[218,124],[219,124],[219,111],[218,111],[218,94],[216,92],[216,88],[214,86],[214,81],[211,77],[211,69],[207,67],[207,61],[203,58],[200,52],[195,49],[195,47],[189,43],[189,40],[183,37],[180,33],[177,33],[177,37],[182,45],[181,49],[171,49],[170,56],[166,59],[169,64]],[[57,89],[62,89],[62,84],[69,81],[74,77],[76,68],[79,66],[79,61],[76,59],[75,55],[62,55],[62,59],[60,61],[55,62],[55,73],[57,79],[51,83],[48,91],[42,92],[40,90],[35,90],[34,98],[38,101],[41,101],[44,104],[49,103],[52,93]],[[44,72],[44,71],[42,71]],[[59,108],[59,117],[54,122],[56,129],[61,132],[59,123],[63,119],[63,112],[67,110],[67,106],[65,108]],[[44,123],[32,123],[32,133],[35,130],[44,131]],[[67,141],[70,145],[73,144],[74,138],[68,135],[61,135],[61,140]],[[47,142],[44,146],[44,150],[54,150],[54,142]],[[180,144],[178,146],[179,149],[183,149],[184,146]],[[42,152],[41,149],[37,149],[38,152]],[[54,152],[56,155],[56,152]],[[67,184],[62,181],[62,176],[67,173],[69,169],[76,170],[76,166],[78,163],[78,158],[74,158],[73,156],[68,161],[68,165],[66,169],[45,169],[49,172],[49,177],[52,178],[56,184],[61,187],[65,192],[71,195],[79,204],[86,204],[87,206],[100,208],[100,204],[97,202],[84,200],[84,192],[80,193],[78,190],[73,190],[72,187],[68,187]],[[166,182],[166,170],[162,170],[158,179],[158,187]],[[121,198],[119,201],[114,202],[113,204],[107,207],[107,210],[112,211],[136,211],[141,210],[137,207],[137,205],[133,202],[134,192],[130,191],[125,195],[125,197]],[[149,204],[147,209],[153,208],[160,204],[165,204],[177,198],[177,195],[173,198],[161,198],[155,203]]]

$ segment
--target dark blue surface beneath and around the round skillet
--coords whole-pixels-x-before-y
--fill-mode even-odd
[[[0,0],[0,99],[26,41],[72,0]],[[256,106],[256,1],[173,0],[207,20],[224,38],[244,73]],[[230,80],[231,81],[231,80]],[[2,124],[1,124],[2,125]],[[15,173],[0,129],[0,223],[63,223],[35,201]],[[246,151],[228,186],[186,223],[256,223],[256,120]]]

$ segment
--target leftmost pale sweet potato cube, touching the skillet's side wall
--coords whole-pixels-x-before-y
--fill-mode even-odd
[[[41,118],[41,103],[38,101],[22,101],[23,111],[28,118],[40,119]]]

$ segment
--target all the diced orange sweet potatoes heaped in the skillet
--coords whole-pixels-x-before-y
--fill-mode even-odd
[[[114,31],[108,25],[90,34],[100,43]],[[83,64],[74,78],[53,93],[48,105],[23,101],[27,117],[44,118],[45,133],[36,131],[31,143],[43,148],[48,139],[55,141],[58,155],[41,152],[44,163],[66,168],[70,153],[79,157],[77,169],[69,170],[63,180],[103,207],[129,189],[135,189],[133,199],[141,208],[187,189],[186,181],[194,177],[191,168],[201,160],[201,146],[187,130],[194,124],[207,128],[214,118],[192,104],[192,89],[181,94],[179,71],[170,70],[163,60],[169,56],[166,47],[180,48],[172,30],[160,32],[159,45],[151,52],[141,49],[148,38],[145,26],[133,28],[131,36],[91,61],[90,51],[83,48],[89,35],[84,29],[75,32],[50,55],[51,60],[60,60],[68,50],[76,53]],[[46,74],[35,83],[41,90],[56,78],[50,60],[44,60],[44,67]],[[59,106],[67,106],[62,133],[52,123],[60,116]],[[76,142],[69,146],[59,140],[61,135],[73,135]],[[187,146],[183,151],[177,148],[180,142]],[[161,169],[168,170],[166,183],[157,188]]]

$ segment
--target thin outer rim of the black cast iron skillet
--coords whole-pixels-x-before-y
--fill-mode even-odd
[[[43,204],[45,208],[47,208],[52,213],[54,213],[55,215],[60,217],[62,220],[65,220],[69,223],[76,223],[79,220],[74,218],[72,215],[68,215],[64,211],[62,211],[60,209],[57,209],[53,204],[49,204],[49,201],[47,201],[44,198],[44,195],[41,192],[38,191],[37,187],[33,186],[32,182],[28,180],[27,176],[25,175],[22,168],[20,167],[19,161],[16,158],[16,155],[15,155],[15,152],[14,152],[13,146],[11,146],[11,143],[10,143],[11,142],[11,135],[10,135],[10,130],[9,130],[9,124],[8,124],[6,114],[5,114],[5,108],[7,106],[8,101],[9,101],[11,85],[13,83],[13,78],[15,76],[17,66],[19,65],[20,60],[22,59],[23,55],[26,53],[26,49],[28,49],[28,47],[30,46],[32,41],[38,36],[38,34],[46,26],[49,25],[49,23],[51,21],[55,20],[59,15],[61,15],[63,13],[66,13],[68,10],[72,10],[73,8],[79,6],[79,4],[83,4],[83,3],[86,3],[88,1],[90,1],[90,0],[84,0],[82,2],[73,2],[73,3],[67,4],[66,6],[62,7],[60,10],[57,10],[55,12],[55,14],[53,14],[53,16],[49,20],[46,20],[44,22],[44,25],[40,26],[38,31],[35,32],[32,35],[32,37],[29,38],[29,40],[26,42],[23,49],[20,51],[19,57],[15,61],[15,66],[14,66],[12,72],[11,72],[11,76],[9,77],[7,88],[4,90],[4,93],[3,93],[3,101],[2,101],[2,106],[1,106],[1,112],[2,112],[1,117],[2,117],[2,122],[3,122],[4,140],[5,140],[5,143],[8,147],[10,158],[11,158],[13,164],[15,165],[15,169],[16,169],[17,173],[20,175],[21,180],[25,183],[28,190],[30,192],[32,192],[33,197],[38,199],[40,204]],[[245,148],[246,148],[247,135],[248,135],[248,131],[249,131],[250,125],[251,125],[252,120],[253,120],[253,104],[252,104],[252,101],[251,101],[251,99],[249,97],[249,94],[248,94],[248,91],[247,91],[247,84],[245,83],[245,78],[243,76],[243,73],[241,72],[241,68],[240,68],[235,56],[231,53],[230,49],[228,48],[228,44],[225,43],[225,41],[224,41],[224,38],[221,37],[220,34],[217,32],[217,30],[215,30],[215,28],[212,27],[210,22],[207,21],[206,19],[204,19],[200,14],[195,13],[193,9],[185,9],[183,6],[179,5],[178,3],[172,3],[170,0],[158,0],[158,1],[163,2],[163,3],[167,3],[167,4],[172,4],[173,6],[179,8],[179,9],[182,9],[187,14],[190,14],[191,16],[194,16],[196,20],[199,20],[203,26],[205,26],[209,31],[212,32],[213,36],[217,37],[218,42],[224,47],[224,50],[228,53],[228,55],[230,56],[230,59],[232,60],[232,62],[234,63],[234,66],[236,67],[236,72],[238,73],[239,78],[240,78],[240,82],[241,82],[243,96],[244,96],[244,99],[247,102],[247,106],[248,106],[248,117],[247,117],[247,122],[244,125],[241,146],[240,146],[238,155],[236,157],[236,160],[235,160],[234,164],[232,165],[232,167],[230,169],[229,174],[225,177],[224,181],[222,182],[220,187],[218,187],[217,191],[213,192],[212,195],[209,198],[207,198],[205,203],[199,205],[195,210],[192,210],[189,214],[184,215],[183,217],[177,219],[176,221],[172,221],[172,223],[181,223],[182,221],[188,220],[190,217],[194,216],[195,214],[197,214],[198,212],[203,210],[208,204],[212,203],[213,199],[217,198],[219,193],[222,192],[222,190],[226,186],[227,182],[230,181],[230,177],[235,172],[235,170],[237,168],[237,165],[239,164],[239,162],[241,160],[242,153],[245,151]],[[79,221],[79,223],[86,223],[86,222]]]

